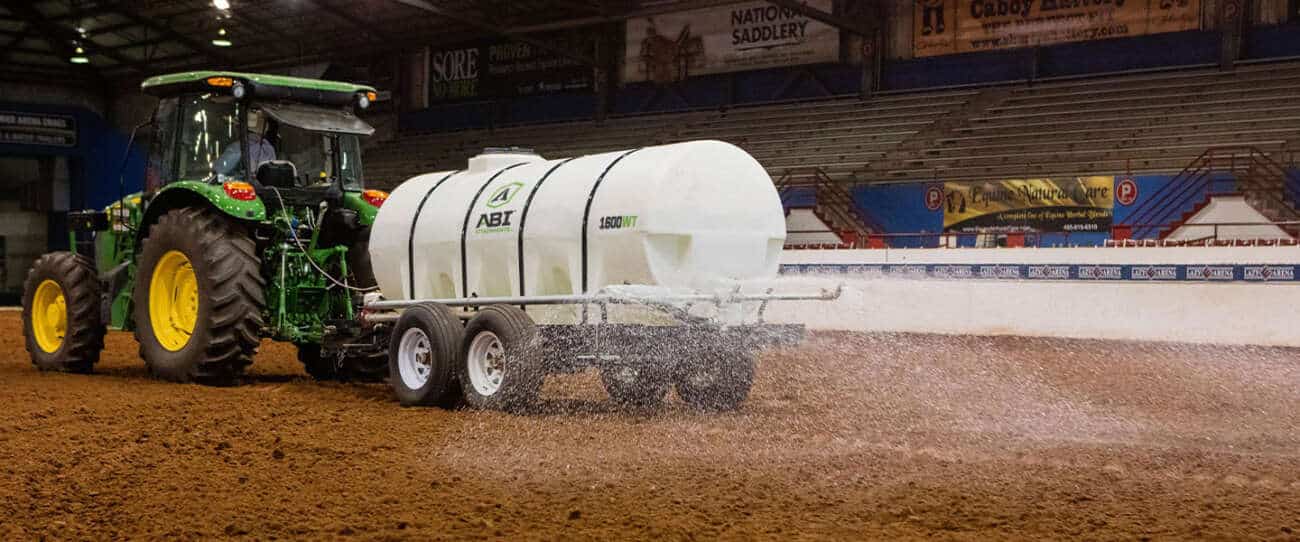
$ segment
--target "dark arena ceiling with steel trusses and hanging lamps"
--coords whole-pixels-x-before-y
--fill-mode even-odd
[[[84,84],[200,68],[273,69],[503,35],[547,47],[540,32],[732,3],[0,0],[0,78]]]

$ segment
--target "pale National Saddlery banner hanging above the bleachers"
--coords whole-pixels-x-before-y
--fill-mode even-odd
[[[809,0],[831,12],[831,0]],[[833,62],[840,32],[766,1],[628,21],[623,81],[671,83],[692,75]]]

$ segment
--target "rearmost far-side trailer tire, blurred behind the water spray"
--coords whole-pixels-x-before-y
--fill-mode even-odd
[[[753,386],[751,352],[701,352],[677,372],[677,395],[702,411],[734,411],[749,398]]]

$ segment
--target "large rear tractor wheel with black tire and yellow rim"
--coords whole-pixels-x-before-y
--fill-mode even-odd
[[[263,279],[244,227],[207,208],[162,214],[135,279],[135,338],[159,378],[230,385],[257,351]]]

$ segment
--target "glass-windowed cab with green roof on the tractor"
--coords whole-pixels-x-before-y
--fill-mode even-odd
[[[146,194],[188,181],[283,207],[364,190],[361,138],[374,129],[354,108],[369,107],[372,87],[229,71],[155,77],[142,87],[160,99]]]

